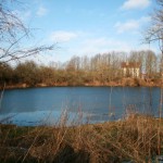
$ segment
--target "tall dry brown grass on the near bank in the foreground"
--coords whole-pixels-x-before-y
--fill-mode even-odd
[[[143,163],[160,150],[163,120],[146,115],[71,127],[0,125],[0,162]]]

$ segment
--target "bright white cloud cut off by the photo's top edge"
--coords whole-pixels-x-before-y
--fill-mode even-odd
[[[123,10],[145,9],[149,7],[150,0],[126,0],[122,5]]]

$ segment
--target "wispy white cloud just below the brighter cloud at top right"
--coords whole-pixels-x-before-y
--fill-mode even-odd
[[[147,24],[150,21],[150,17],[141,17],[139,20],[130,20],[125,23],[117,22],[115,24],[116,30],[118,34],[125,32],[137,32],[142,25]]]

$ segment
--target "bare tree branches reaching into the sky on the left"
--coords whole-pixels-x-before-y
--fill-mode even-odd
[[[52,50],[52,46],[23,47],[23,41],[28,39],[30,29],[27,28],[20,16],[13,11],[16,0],[0,0],[0,63],[17,61],[22,58]],[[10,8],[11,7],[11,8]]]

